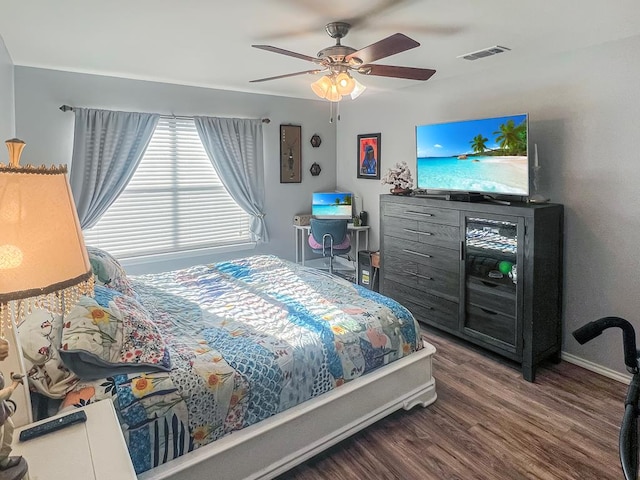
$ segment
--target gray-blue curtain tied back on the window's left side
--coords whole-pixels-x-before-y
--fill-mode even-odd
[[[82,229],[94,226],[131,180],[160,115],[74,108],[69,183]]]

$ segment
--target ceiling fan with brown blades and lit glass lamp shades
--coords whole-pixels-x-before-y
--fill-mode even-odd
[[[296,75],[314,75],[326,72],[326,75],[311,84],[311,88],[320,98],[338,102],[345,95],[356,98],[366,88],[351,76],[351,71],[362,75],[406,78],[409,80],[428,80],[436,73],[435,70],[428,68],[398,67],[371,63],[395,55],[396,53],[418,47],[420,44],[402,33],[395,33],[367,47],[356,50],[355,48],[340,43],[340,40],[349,33],[350,28],[351,25],[346,22],[331,22],[327,24],[325,30],[331,38],[336,39],[336,44],[320,50],[316,57],[273,47],[271,45],[251,45],[254,48],[307,60],[318,65],[318,68],[313,70],[260,78],[258,80],[251,80],[251,82],[266,82],[268,80],[277,80],[279,78],[293,77]]]

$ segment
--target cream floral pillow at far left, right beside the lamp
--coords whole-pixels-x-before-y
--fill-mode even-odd
[[[60,359],[62,317],[34,309],[18,327],[29,387],[50,398],[64,398],[78,376]]]

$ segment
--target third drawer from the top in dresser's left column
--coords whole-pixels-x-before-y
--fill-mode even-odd
[[[386,255],[397,258],[403,262],[418,263],[448,272],[458,272],[460,270],[459,250],[412,242],[388,235],[384,236],[383,262],[385,268],[389,265],[386,260],[384,260]]]

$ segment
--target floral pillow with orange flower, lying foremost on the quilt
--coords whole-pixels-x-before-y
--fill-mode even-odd
[[[80,378],[165,370],[169,351],[137,299],[96,286],[65,316],[60,357]]]

